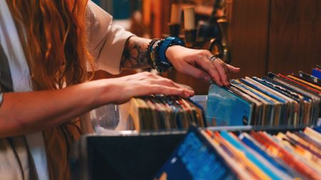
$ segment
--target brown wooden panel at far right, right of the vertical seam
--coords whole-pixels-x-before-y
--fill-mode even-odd
[[[311,72],[321,63],[321,1],[271,0],[268,69]]]

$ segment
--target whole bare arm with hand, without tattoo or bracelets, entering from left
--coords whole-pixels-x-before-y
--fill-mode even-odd
[[[6,92],[0,106],[0,137],[44,130],[101,105],[156,93],[193,95],[193,91],[151,73],[94,80],[61,90]]]

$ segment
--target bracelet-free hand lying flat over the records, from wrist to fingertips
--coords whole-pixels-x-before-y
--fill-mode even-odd
[[[106,96],[115,104],[127,102],[131,97],[151,94],[178,95],[180,97],[194,95],[193,90],[188,90],[174,83],[173,80],[148,72],[106,79],[106,83],[110,87]]]

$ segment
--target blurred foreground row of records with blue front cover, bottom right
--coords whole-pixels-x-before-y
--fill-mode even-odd
[[[321,129],[237,135],[191,128],[156,179],[321,179]]]

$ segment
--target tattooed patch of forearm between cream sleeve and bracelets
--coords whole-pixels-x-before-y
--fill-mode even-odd
[[[121,57],[121,70],[151,67],[147,51],[150,41],[149,39],[135,36],[128,38]]]

